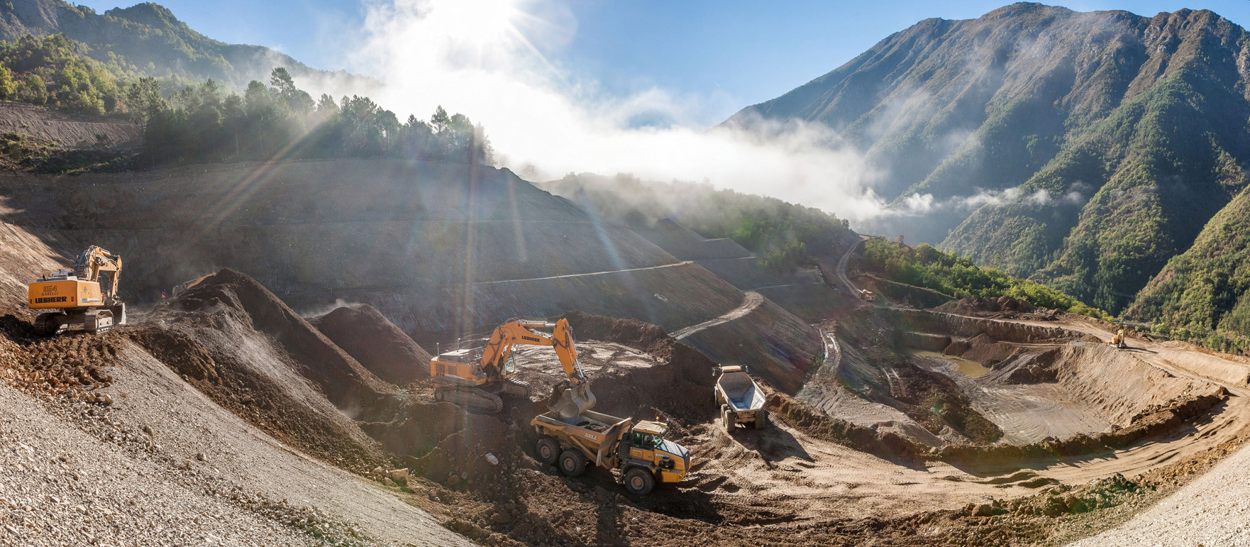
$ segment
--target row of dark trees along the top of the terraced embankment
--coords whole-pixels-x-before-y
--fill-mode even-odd
[[[145,77],[126,100],[155,162],[371,156],[494,162],[485,131],[462,114],[440,106],[429,121],[400,122],[369,97],[314,101],[281,67],[269,86],[252,81],[241,96],[208,80],[165,100],[160,84]]]

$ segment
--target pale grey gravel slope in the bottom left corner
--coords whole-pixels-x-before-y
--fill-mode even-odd
[[[394,490],[252,427],[138,346],[119,361],[100,390],[110,406],[0,382],[0,545],[471,545]]]

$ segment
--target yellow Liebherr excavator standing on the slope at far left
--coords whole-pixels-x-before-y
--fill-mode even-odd
[[[35,317],[36,335],[55,335],[71,325],[102,332],[126,323],[126,305],[118,296],[121,255],[92,245],[79,255],[74,270],[41,276],[26,287],[31,310],[49,310]]]

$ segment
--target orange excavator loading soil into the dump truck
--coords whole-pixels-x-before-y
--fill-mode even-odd
[[[551,333],[536,328],[551,328]],[[565,318],[555,323],[511,320],[495,328],[482,347],[439,353],[430,360],[430,377],[439,383],[434,390],[435,401],[499,412],[504,410],[500,393],[528,397],[530,385],[514,378],[516,362],[512,347],[518,345],[555,348],[569,387],[551,402],[551,410],[564,416],[578,416],[595,406],[595,396],[578,360],[572,327]]]

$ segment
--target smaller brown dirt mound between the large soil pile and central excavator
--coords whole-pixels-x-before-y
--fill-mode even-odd
[[[430,376],[430,353],[368,303],[338,307],[309,323],[379,378],[404,386]]]

